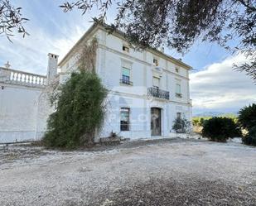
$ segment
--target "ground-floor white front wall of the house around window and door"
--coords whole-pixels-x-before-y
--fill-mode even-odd
[[[162,109],[162,137],[170,137],[174,132],[171,127],[176,113],[183,113],[187,119],[191,119],[191,108],[180,103],[110,93],[107,105],[108,113],[99,137],[109,137],[111,132],[115,132],[118,136],[130,139],[151,138],[151,108]],[[130,131],[128,132],[120,131],[120,108],[130,108]]]

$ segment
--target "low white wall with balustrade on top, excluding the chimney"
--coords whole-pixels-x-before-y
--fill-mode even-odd
[[[0,67],[0,142],[36,139],[38,100],[45,88],[46,76]]]

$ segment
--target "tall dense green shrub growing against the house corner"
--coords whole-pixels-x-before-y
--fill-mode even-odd
[[[104,119],[106,89],[96,74],[73,73],[53,98],[56,112],[48,118],[43,142],[47,147],[89,146]]]

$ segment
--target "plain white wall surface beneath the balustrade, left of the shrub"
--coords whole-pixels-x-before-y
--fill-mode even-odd
[[[0,142],[35,140],[41,89],[0,83]]]

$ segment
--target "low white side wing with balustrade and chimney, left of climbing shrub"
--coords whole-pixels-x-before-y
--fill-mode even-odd
[[[0,67],[0,143],[41,139],[53,111],[49,92],[58,80],[57,60],[48,55],[46,76]]]

